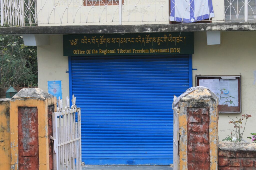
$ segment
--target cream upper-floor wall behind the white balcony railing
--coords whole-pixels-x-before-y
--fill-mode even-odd
[[[84,0],[37,0],[38,26],[119,25],[118,5],[84,6],[83,2]],[[169,0],[123,2],[122,25],[169,23]],[[212,0],[212,6],[215,14],[212,22],[223,22],[224,1]]]

